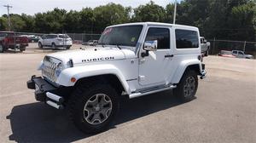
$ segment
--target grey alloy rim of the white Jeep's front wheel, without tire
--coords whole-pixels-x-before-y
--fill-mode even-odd
[[[95,94],[86,101],[84,119],[96,125],[105,122],[112,112],[112,101],[107,94]]]

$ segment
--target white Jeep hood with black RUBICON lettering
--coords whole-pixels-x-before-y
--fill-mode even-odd
[[[81,64],[105,60],[121,60],[126,58],[135,57],[131,50],[116,49],[116,48],[97,48],[97,49],[77,49],[49,54],[63,62],[67,63],[72,59],[73,64]]]

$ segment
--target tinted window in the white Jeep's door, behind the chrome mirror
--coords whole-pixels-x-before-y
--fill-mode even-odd
[[[167,28],[149,28],[145,41],[157,40],[157,49],[170,49],[170,31]]]

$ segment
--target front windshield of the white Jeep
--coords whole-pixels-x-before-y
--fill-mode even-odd
[[[106,28],[102,32],[99,44],[135,47],[142,29],[142,25]]]

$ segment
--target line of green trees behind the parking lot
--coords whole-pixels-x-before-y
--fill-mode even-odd
[[[177,24],[197,26],[207,38],[256,41],[256,0],[183,0],[177,3]],[[80,11],[10,14],[12,31],[101,33],[106,26],[128,22],[172,23],[174,3],[162,7],[153,1],[137,8],[116,3]],[[0,17],[0,30],[8,29],[8,16]]]

